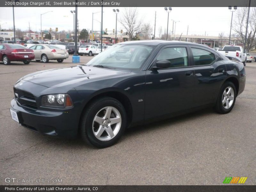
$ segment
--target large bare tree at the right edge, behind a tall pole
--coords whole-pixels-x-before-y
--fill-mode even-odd
[[[246,21],[248,15],[248,7],[242,7],[238,10],[234,25],[232,25],[235,31],[235,36],[241,38],[244,42]],[[251,7],[250,16],[248,20],[246,49],[249,51],[256,46],[256,7]]]

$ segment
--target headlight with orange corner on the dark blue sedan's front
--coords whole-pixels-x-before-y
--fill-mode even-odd
[[[68,94],[52,94],[42,97],[42,106],[56,108],[71,108],[73,102]]]

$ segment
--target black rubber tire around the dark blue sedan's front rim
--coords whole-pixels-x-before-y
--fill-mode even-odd
[[[104,107],[114,107],[121,114],[121,126],[119,131],[116,133],[116,135],[112,139],[107,141],[99,140],[98,138],[96,138],[96,136],[93,133],[94,117]],[[103,98],[94,100],[88,107],[86,107],[86,110],[83,112],[81,116],[80,133],[81,133],[82,139],[85,142],[98,148],[106,148],[114,145],[120,139],[120,137],[124,133],[126,126],[127,126],[127,116],[126,116],[124,106],[118,100],[112,97],[103,97]],[[103,131],[103,133],[104,132],[105,131]]]

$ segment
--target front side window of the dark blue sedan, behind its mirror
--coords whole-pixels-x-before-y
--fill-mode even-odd
[[[168,47],[161,51],[156,59],[169,60],[171,68],[174,67],[188,67],[188,53],[185,47]]]

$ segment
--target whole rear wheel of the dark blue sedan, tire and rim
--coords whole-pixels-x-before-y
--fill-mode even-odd
[[[229,113],[236,102],[236,87],[230,82],[226,81],[221,89],[216,101],[215,109],[218,113]]]

